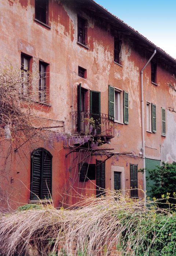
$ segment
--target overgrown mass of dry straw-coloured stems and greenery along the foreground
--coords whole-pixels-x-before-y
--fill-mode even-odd
[[[82,198],[83,199],[83,198]],[[150,204],[150,202],[147,202]],[[109,192],[78,209],[41,206],[0,217],[0,255],[176,255],[176,214]],[[60,254],[58,254],[60,252]]]

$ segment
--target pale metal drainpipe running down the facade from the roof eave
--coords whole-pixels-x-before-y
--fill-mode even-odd
[[[146,193],[146,162],[145,162],[145,135],[144,135],[144,88],[143,88],[143,70],[146,68],[148,63],[153,59],[154,55],[156,54],[156,49],[154,50],[154,53],[151,55],[150,59],[147,61],[147,63],[143,66],[141,72],[140,72],[140,82],[141,82],[141,116],[142,116],[142,151],[143,151],[143,168],[144,168],[144,175],[143,175],[143,188],[144,192]],[[146,196],[144,198],[144,203],[146,205]]]

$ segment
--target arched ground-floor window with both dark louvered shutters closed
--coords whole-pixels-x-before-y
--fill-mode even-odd
[[[52,189],[52,155],[43,148],[31,154],[30,199],[49,199]]]

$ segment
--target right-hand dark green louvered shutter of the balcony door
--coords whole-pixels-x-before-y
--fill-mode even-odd
[[[91,91],[91,117],[95,120],[96,134],[101,132],[101,114],[100,114],[100,92]]]

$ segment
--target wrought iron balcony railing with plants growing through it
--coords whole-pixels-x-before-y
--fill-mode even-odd
[[[76,111],[72,116],[73,132],[81,135],[114,137],[114,117],[102,113]]]

